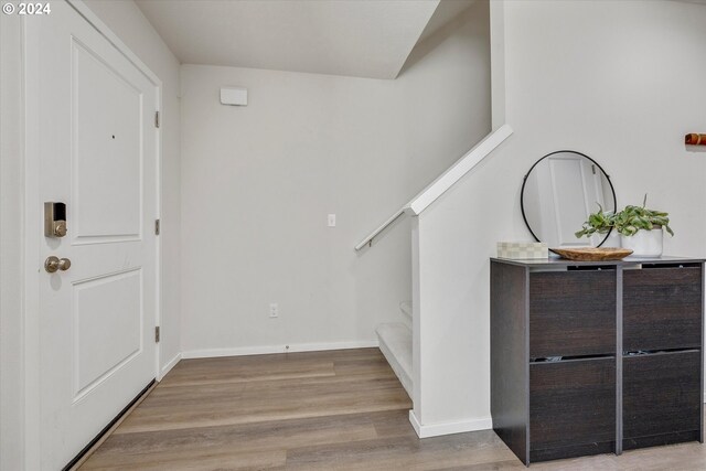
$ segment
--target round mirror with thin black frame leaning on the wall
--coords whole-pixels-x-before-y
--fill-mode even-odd
[[[520,197],[527,228],[549,247],[598,247],[608,238],[609,234],[575,235],[599,205],[616,211],[610,178],[580,152],[560,150],[544,156],[525,175]]]

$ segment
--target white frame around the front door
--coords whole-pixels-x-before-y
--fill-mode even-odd
[[[162,108],[162,82],[150,71],[150,68],[140,58],[128,49],[128,46],[113,32],[82,1],[65,0],[74,10],[78,12],[88,23],[90,23],[104,38],[108,40],[128,61],[130,61],[150,83],[157,88],[157,109]],[[23,17],[23,22],[32,21],[32,18]],[[38,95],[33,90],[38,89],[38,84],[33,82],[36,78],[36,65],[31,64],[26,57],[26,50],[30,41],[35,38],[28,38],[23,23],[23,41],[22,62],[24,66],[24,469],[40,469],[41,462],[41,443],[40,443],[40,322],[39,312],[39,292],[40,278],[38,270],[41,270],[42,261],[40,257],[40,242],[43,214],[42,202],[39,201],[39,169],[40,154],[38,151],[38,130],[39,114],[42,104],[39,103]],[[33,46],[38,46],[33,44]],[[161,190],[162,190],[162,132],[157,129],[157,195],[156,195],[156,218],[161,217]],[[160,325],[161,322],[161,258],[162,245],[161,237],[156,240],[156,312],[154,324]],[[161,379],[161,349],[160,343],[156,345],[154,355],[154,377]]]

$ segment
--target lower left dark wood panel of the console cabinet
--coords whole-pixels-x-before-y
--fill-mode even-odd
[[[530,365],[531,460],[602,453],[614,440],[614,358]]]

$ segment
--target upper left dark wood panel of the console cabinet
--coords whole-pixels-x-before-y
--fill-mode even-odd
[[[530,276],[530,356],[616,353],[616,271]]]

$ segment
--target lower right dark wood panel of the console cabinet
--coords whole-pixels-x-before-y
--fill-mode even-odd
[[[700,429],[700,351],[689,351],[623,358],[625,449],[698,437],[683,432]]]

